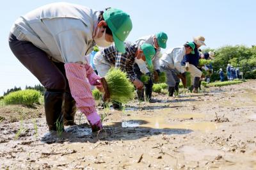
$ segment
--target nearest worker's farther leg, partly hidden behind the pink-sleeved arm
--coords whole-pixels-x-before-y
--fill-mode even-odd
[[[65,76],[66,82],[68,82],[64,63],[56,63],[54,62],[54,65],[56,65],[61,73]],[[64,96],[64,104],[63,104],[63,118],[64,118],[64,125],[76,125],[75,123],[75,116],[76,116],[76,101],[72,97],[69,84],[67,83],[66,89],[65,89],[65,96]]]

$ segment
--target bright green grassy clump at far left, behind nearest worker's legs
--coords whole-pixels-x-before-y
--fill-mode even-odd
[[[39,99],[42,97],[40,91],[35,89],[19,90],[6,95],[3,99],[4,104],[24,104],[26,106],[32,106],[38,104]]]

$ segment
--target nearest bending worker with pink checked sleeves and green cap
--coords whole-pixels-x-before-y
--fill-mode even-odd
[[[47,4],[15,21],[10,49],[46,89],[49,130],[57,129],[57,121],[63,124],[63,115],[73,125],[76,107],[86,115],[93,132],[102,128],[90,89],[90,84],[101,86],[100,77],[84,56],[95,44],[108,47],[113,42],[125,52],[124,40],[131,29],[131,19],[122,10],[99,12],[70,3]]]

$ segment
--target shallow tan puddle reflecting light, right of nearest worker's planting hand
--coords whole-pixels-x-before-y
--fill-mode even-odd
[[[194,114],[184,114],[179,116],[180,118],[195,118]],[[203,115],[198,114],[198,118]],[[175,117],[175,116],[174,116]],[[189,130],[200,130],[202,132],[209,132],[216,130],[218,126],[213,122],[184,122],[184,123],[170,123],[168,117],[158,116],[152,118],[131,118],[131,120],[124,120],[122,122],[108,123],[106,126],[113,127],[145,127],[154,129],[189,129]]]

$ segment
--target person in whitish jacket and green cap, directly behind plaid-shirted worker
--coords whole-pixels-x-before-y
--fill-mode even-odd
[[[168,40],[168,36],[164,32],[159,32],[156,35],[148,35],[143,36],[136,40],[136,44],[140,47],[144,43],[149,43],[153,45],[156,50],[155,56],[152,58],[153,70],[155,75],[155,80],[160,74],[160,66],[159,66],[159,59],[161,58],[161,48],[166,49],[166,42]],[[136,59],[134,63],[134,72],[136,73],[136,77],[138,79],[141,78],[141,75],[147,74],[150,76],[148,82],[144,82],[145,86],[145,95],[148,102],[154,102],[152,100],[152,88],[153,88],[153,76],[152,73],[148,70],[147,63],[143,61],[143,59]],[[137,89],[138,99],[144,101],[144,88]]]

